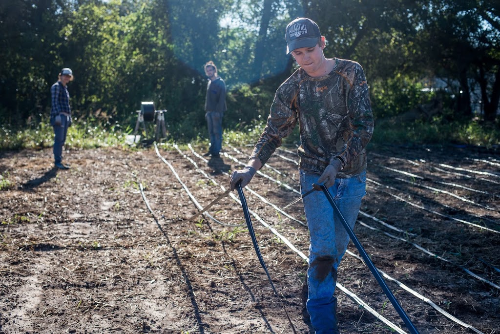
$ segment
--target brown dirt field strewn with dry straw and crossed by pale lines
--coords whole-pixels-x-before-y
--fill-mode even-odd
[[[293,333],[280,300],[296,332],[311,332],[293,147],[244,190],[280,299],[235,191],[210,217],[184,220],[224,192],[251,147],[224,149],[208,159],[205,147],[71,150],[69,170],[52,169],[51,149],[0,153],[0,333]],[[368,152],[354,232],[420,333],[500,333],[499,159],[456,147]],[[348,250],[338,283],[350,295],[336,289],[341,332],[409,332]]]

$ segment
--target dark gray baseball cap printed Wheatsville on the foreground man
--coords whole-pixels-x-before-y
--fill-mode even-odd
[[[286,26],[286,54],[299,47],[313,47],[321,37],[316,22],[306,17],[297,17]]]

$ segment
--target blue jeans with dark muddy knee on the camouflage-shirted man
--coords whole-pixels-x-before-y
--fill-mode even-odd
[[[317,183],[319,174],[300,171],[302,194]],[[366,194],[366,171],[350,178],[336,178],[328,191],[351,228]],[[338,333],[336,298],[333,295],[336,272],[342,259],[349,234],[333,212],[333,208],[322,191],[302,198],[305,218],[309,228],[309,266],[307,268],[308,298],[307,312],[316,334]]]

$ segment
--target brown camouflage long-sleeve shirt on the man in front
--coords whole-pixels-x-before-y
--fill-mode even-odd
[[[333,60],[333,69],[322,77],[299,68],[279,86],[250,159],[264,164],[298,122],[300,169],[322,173],[335,158],[342,161],[337,177],[366,168],[365,146],[373,133],[366,78],[359,63]]]

